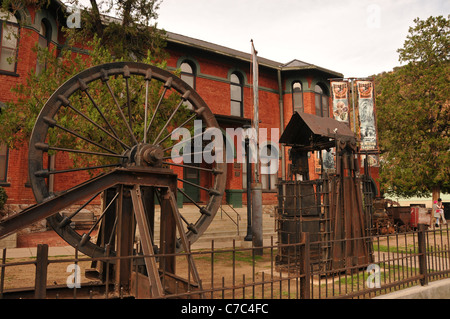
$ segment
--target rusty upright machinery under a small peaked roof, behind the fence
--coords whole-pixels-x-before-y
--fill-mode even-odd
[[[357,143],[344,123],[306,113],[294,113],[280,137],[290,146],[291,180],[278,183],[278,235],[283,244],[299,243],[310,236],[309,259],[324,271],[367,264],[371,245],[362,239],[371,225],[371,180],[368,169],[360,174]],[[333,170],[321,169],[320,178],[309,179],[308,152],[335,148]],[[279,249],[279,267],[301,264],[301,254]]]

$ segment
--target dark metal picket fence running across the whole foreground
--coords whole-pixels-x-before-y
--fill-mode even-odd
[[[370,260],[358,263],[355,256],[344,254],[340,267],[330,266],[333,260],[315,258],[312,262],[311,247],[321,243],[311,242],[308,234],[294,244],[280,244],[272,238],[262,249],[236,247],[236,242],[218,249],[213,241],[211,248],[189,254],[200,281],[195,282],[191,275],[188,254],[176,254],[176,276],[160,273],[164,293],[158,298],[373,298],[449,276],[447,225],[429,229],[421,225],[410,232],[353,240],[370,243]],[[131,284],[122,285],[111,271],[118,257],[93,259],[76,250],[73,256],[53,257],[46,245],[40,245],[36,258],[11,259],[3,249],[0,297],[152,298],[148,277],[142,275],[144,257],[125,258],[134,275]],[[155,257],[161,260],[166,256]]]

